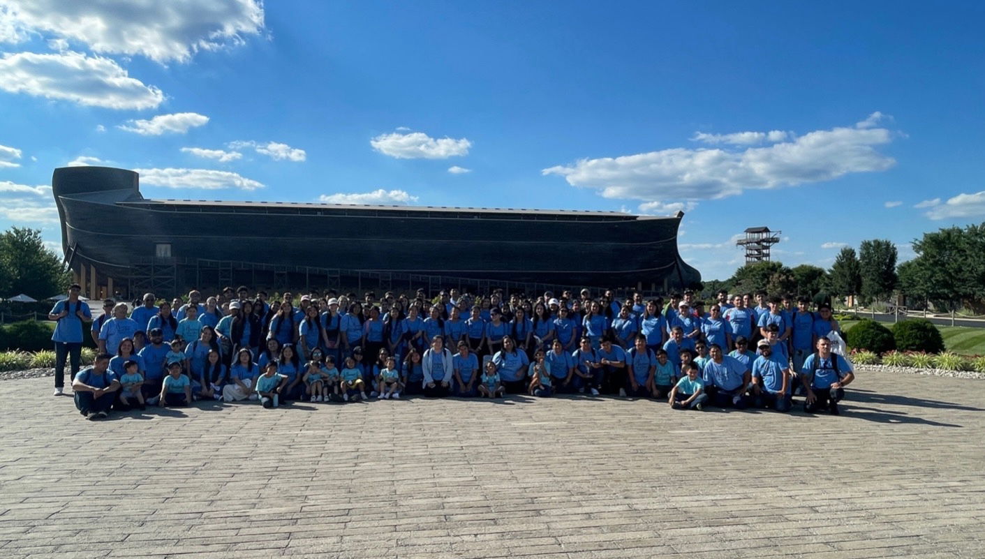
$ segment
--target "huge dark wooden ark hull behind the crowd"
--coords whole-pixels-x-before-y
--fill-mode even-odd
[[[184,278],[196,261],[645,290],[700,280],[678,253],[680,217],[158,201],[137,173],[107,167],[55,169],[52,189],[70,266],[118,286],[140,282],[137,265]]]

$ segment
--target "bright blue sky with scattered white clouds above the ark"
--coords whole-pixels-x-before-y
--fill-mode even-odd
[[[685,210],[686,261],[985,219],[985,5],[0,0],[0,227],[150,198]],[[208,187],[208,188],[205,188]],[[536,258],[536,255],[532,255]]]

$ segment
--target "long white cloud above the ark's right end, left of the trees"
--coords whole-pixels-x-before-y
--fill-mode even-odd
[[[762,148],[674,148],[580,159],[542,173],[563,176],[571,186],[599,189],[605,198],[709,200],[735,196],[747,189],[798,186],[853,172],[886,170],[895,160],[875,147],[890,141],[891,134],[885,128],[833,128]]]

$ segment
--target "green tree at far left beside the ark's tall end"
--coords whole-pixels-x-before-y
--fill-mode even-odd
[[[64,292],[69,280],[61,258],[44,248],[39,229],[11,227],[0,234],[0,293],[41,299]]]

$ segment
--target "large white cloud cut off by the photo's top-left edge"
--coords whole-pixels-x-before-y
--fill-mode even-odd
[[[0,0],[0,39],[44,33],[160,63],[187,62],[197,51],[241,44],[263,29],[259,0]]]

